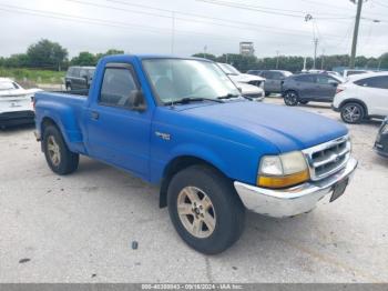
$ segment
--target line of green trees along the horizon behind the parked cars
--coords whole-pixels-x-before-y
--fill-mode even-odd
[[[101,57],[108,54],[124,53],[122,50],[110,49],[103,53],[80,52],[76,57],[69,59],[69,52],[58,42],[42,39],[31,44],[25,53],[12,54],[9,58],[0,57],[0,67],[3,68],[35,68],[47,70],[65,70],[69,66],[95,66]],[[279,56],[273,58],[246,57],[237,53],[224,53],[214,56],[211,53],[195,53],[193,57],[206,58],[217,62],[227,62],[245,72],[247,70],[279,69],[298,72],[303,69],[304,58],[299,56]],[[336,67],[347,67],[350,57],[348,54],[320,56],[316,60],[316,68],[333,70]],[[356,67],[363,69],[386,69],[388,70],[388,52],[379,58],[356,58]],[[313,58],[306,59],[306,68],[313,68]]]

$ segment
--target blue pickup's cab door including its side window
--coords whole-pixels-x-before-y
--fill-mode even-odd
[[[131,103],[140,91],[132,64],[105,66],[99,97],[88,109],[88,149],[99,160],[146,175],[151,112],[146,104],[136,110]]]

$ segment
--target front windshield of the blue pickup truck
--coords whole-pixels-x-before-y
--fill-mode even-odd
[[[182,99],[218,100],[239,96],[239,91],[217,64],[201,60],[149,59],[143,60],[154,92],[164,104]]]

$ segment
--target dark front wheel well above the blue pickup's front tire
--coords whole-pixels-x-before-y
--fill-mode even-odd
[[[163,173],[163,179],[162,179],[161,190],[160,190],[160,199],[159,199],[160,208],[165,208],[167,205],[167,189],[169,189],[170,181],[174,177],[174,174],[194,164],[203,164],[212,169],[215,169],[216,171],[222,173],[222,171],[216,167],[214,167],[212,163],[193,155],[182,155],[173,159],[166,165]]]

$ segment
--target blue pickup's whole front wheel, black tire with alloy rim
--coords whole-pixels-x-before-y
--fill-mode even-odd
[[[198,252],[221,253],[244,230],[245,208],[232,181],[210,167],[192,165],[176,173],[169,185],[167,204],[175,230]],[[194,224],[196,231],[190,231]]]

